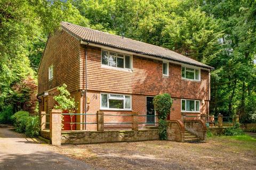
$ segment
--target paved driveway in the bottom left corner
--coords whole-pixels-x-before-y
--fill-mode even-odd
[[[0,126],[0,169],[97,169],[51,151],[49,145]]]

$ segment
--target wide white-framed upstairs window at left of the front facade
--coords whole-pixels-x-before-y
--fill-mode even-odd
[[[131,69],[132,56],[102,49],[101,64],[111,67],[117,67],[120,69]]]

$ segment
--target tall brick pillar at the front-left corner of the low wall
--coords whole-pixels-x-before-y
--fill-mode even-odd
[[[52,145],[61,145],[61,110],[52,109],[50,114],[50,138]]]

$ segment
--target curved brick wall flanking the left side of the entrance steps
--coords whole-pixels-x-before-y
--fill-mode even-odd
[[[180,120],[167,121],[167,140],[184,142],[185,128]]]

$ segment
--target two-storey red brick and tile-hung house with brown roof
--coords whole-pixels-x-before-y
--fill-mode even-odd
[[[62,22],[49,36],[39,66],[39,109],[50,113],[56,88],[66,83],[78,102],[77,113],[155,115],[153,97],[169,93],[171,120],[207,115],[211,69],[170,49]],[[154,124],[152,117],[145,121]],[[75,121],[93,120],[78,115]],[[76,124],[77,130],[94,128]]]

